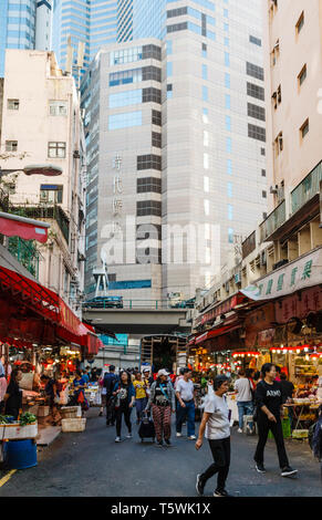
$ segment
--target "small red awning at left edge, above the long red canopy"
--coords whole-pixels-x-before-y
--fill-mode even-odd
[[[0,211],[0,233],[45,243],[50,223]]]

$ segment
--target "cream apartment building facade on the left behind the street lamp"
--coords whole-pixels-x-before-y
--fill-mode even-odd
[[[73,77],[44,51],[7,51],[3,86],[2,179],[10,211],[50,221],[38,248],[39,281],[81,311],[85,253],[85,142]],[[61,175],[25,175],[28,165]]]

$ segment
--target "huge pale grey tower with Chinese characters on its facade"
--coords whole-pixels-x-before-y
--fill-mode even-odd
[[[156,24],[164,38],[105,48],[83,84],[89,293],[111,222],[129,249],[136,243],[134,264],[127,257],[114,264],[106,260],[112,293],[189,298],[210,285],[216,268],[266,217],[261,2],[165,6]],[[123,2],[124,13],[135,7]],[[160,56],[147,64],[152,45]],[[126,216],[135,232],[141,222],[155,225],[155,236],[147,230],[127,237]]]

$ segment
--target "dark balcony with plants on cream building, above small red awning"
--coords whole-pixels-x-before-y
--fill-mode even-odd
[[[9,212],[21,215],[22,217],[34,218],[39,220],[44,219],[53,219],[58,222],[60,230],[67,242],[70,243],[70,220],[64,212],[64,210],[58,206],[43,206],[43,205],[20,205],[20,206],[11,206]]]

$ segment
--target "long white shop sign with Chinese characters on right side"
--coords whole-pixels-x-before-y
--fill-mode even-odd
[[[322,248],[259,280],[240,292],[251,300],[271,300],[322,282]]]

